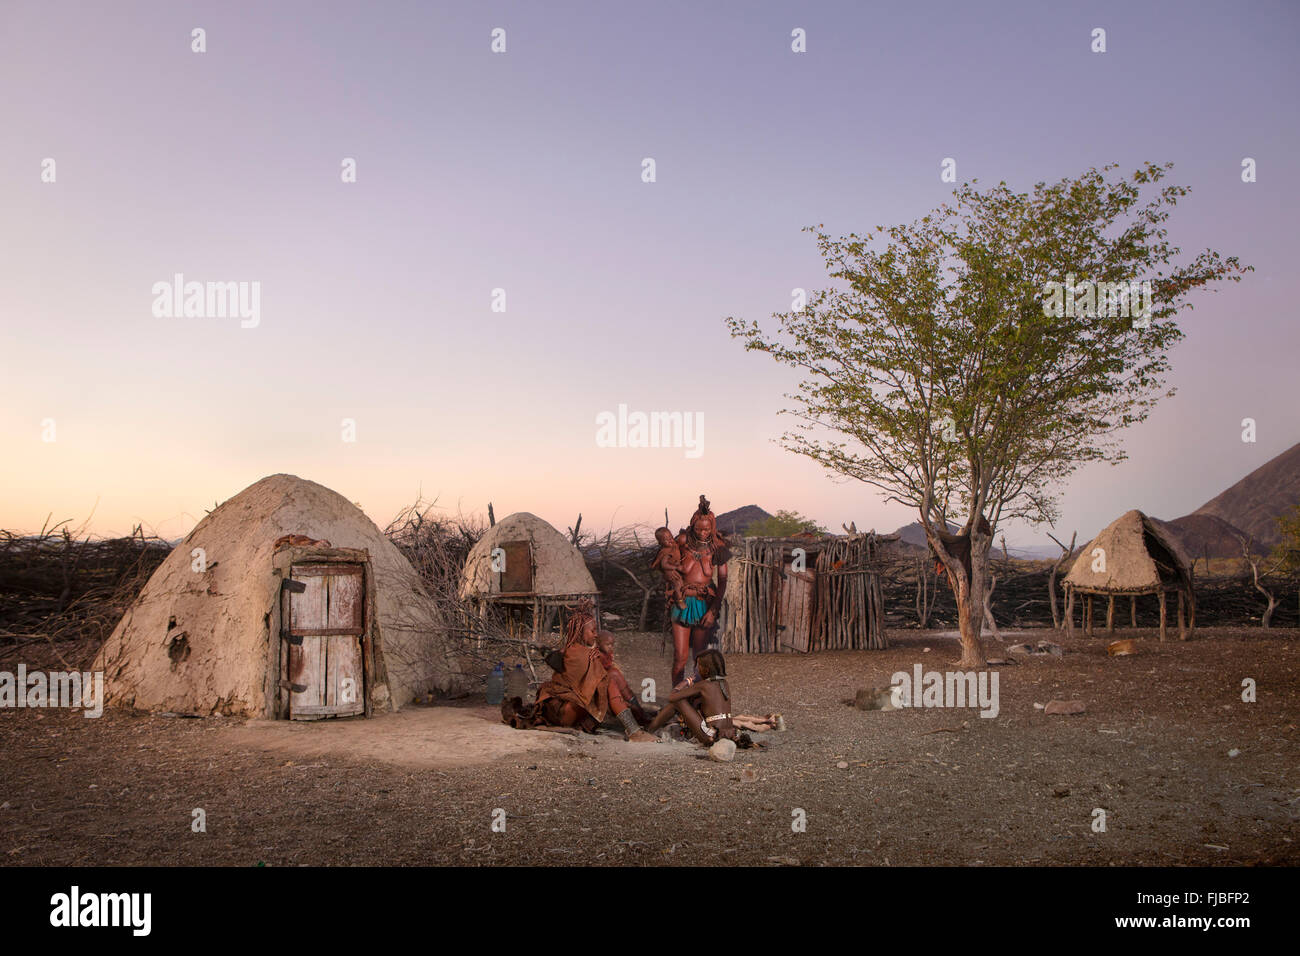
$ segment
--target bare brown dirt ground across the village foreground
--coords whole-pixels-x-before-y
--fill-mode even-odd
[[[5,710],[0,861],[1300,862],[1295,632],[1143,633],[1130,658],[1100,639],[1031,636],[1067,653],[998,667],[993,719],[840,704],[915,663],[950,667],[956,641],[939,633],[894,633],[887,652],[733,656],[737,706],[790,727],[734,763],[512,731],[473,704],[333,724]],[[623,635],[618,653],[634,687],[667,680],[658,635]],[[1053,697],[1088,710],[1035,709]],[[498,809],[506,832],[491,830]]]

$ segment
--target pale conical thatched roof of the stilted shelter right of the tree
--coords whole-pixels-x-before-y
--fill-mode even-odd
[[[1105,570],[1095,551],[1105,555]],[[1079,591],[1110,594],[1140,594],[1162,587],[1192,587],[1187,557],[1176,538],[1154,518],[1136,509],[1127,511],[1086,545],[1066,575],[1066,584]]]

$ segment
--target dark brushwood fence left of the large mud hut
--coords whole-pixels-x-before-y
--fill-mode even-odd
[[[58,644],[98,649],[172,551],[139,525],[114,538],[70,525],[47,520],[35,535],[0,531],[0,646],[48,641],[65,665]]]

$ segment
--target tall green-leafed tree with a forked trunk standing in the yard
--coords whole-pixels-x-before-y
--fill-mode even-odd
[[[1027,194],[966,183],[867,237],[810,228],[836,284],[775,315],[774,334],[727,319],[746,349],[803,373],[785,447],[916,509],[957,597],[963,667],[984,665],[998,523],[1053,520],[1063,479],[1124,458],[1117,433],[1170,394],[1188,293],[1248,271],[1212,250],[1174,264],[1165,220],[1187,189],[1158,187],[1169,168],[1110,165]],[[956,541],[949,516],[965,516]]]

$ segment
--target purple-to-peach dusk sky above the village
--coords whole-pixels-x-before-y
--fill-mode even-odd
[[[1282,3],[0,0],[0,527],[176,537],[289,472],[381,525],[419,496],[679,524],[705,492],[892,531],[915,514],[775,441],[797,378],[724,319],[827,285],[805,226],[949,199],[946,157],[1022,191],[1173,161],[1184,259],[1254,267],[1193,294],[1178,394],[1061,488],[1057,535],[1186,514],[1300,441],[1297,27]],[[166,315],[177,274],[256,287],[256,319]],[[607,446],[620,406],[701,441]]]

